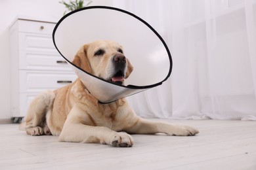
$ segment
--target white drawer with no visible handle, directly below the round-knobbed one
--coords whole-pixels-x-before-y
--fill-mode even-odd
[[[58,54],[51,35],[38,35],[32,33],[18,33],[18,50]]]

